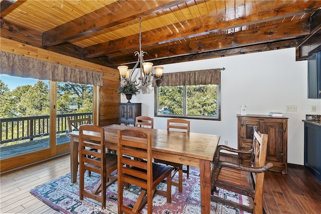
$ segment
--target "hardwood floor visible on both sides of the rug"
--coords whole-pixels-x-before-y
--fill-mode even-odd
[[[226,159],[228,159],[227,157]],[[0,178],[0,213],[59,213],[29,190],[70,171],[69,154],[7,172]],[[303,166],[289,164],[288,174],[265,173],[266,213],[321,213],[321,183]]]

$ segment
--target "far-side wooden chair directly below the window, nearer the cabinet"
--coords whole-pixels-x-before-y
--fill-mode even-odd
[[[168,131],[182,131],[190,133],[190,121],[180,118],[168,119],[167,120],[167,130]],[[175,143],[175,142],[173,142]],[[175,170],[172,173],[172,177],[179,172],[179,182],[172,181],[172,184],[179,187],[179,192],[183,192],[183,172],[187,174],[187,177],[190,176],[190,166],[187,165],[186,169],[183,168],[183,164],[175,163],[171,161],[154,159],[155,162],[164,163],[175,167]]]

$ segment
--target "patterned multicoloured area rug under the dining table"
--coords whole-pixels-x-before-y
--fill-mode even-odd
[[[178,173],[177,173],[178,174]],[[85,188],[94,189],[99,181],[99,175],[92,172],[90,177],[85,176]],[[190,177],[184,173],[183,193],[178,192],[178,187],[172,186],[172,203],[167,203],[166,197],[155,194],[153,197],[153,213],[201,213],[200,202],[200,179],[199,172],[190,170]],[[177,175],[174,179],[178,179]],[[101,204],[90,198],[79,200],[79,179],[76,183],[70,182],[70,173],[57,179],[44,183],[30,192],[37,198],[48,204],[53,209],[61,213],[117,213],[117,182],[107,188],[106,208],[101,209]],[[166,184],[160,184],[158,188],[166,188]],[[132,206],[140,192],[136,186],[130,185],[128,190],[124,190],[124,203]],[[243,204],[248,203],[248,197],[219,189],[220,196],[230,197]],[[147,205],[146,205],[147,206]],[[146,206],[142,213],[147,213]],[[248,212],[222,205],[211,201],[211,213],[240,213]]]

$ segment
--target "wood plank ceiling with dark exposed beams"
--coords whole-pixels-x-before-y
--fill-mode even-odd
[[[321,50],[321,1],[1,1],[0,36],[99,65]]]

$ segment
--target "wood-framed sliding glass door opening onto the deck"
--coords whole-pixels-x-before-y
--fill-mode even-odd
[[[0,75],[1,171],[69,152],[67,117],[93,112],[93,86]]]

